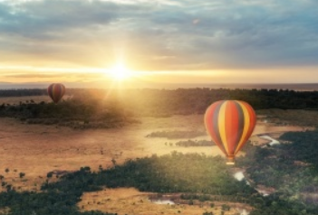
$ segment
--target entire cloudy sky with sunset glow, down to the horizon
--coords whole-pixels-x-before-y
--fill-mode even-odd
[[[116,65],[137,84],[313,83],[318,2],[0,0],[0,83],[103,86]]]

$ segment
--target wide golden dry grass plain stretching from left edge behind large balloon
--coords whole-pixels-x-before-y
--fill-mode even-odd
[[[187,153],[221,154],[217,146],[182,147],[169,145],[180,139],[146,137],[160,130],[204,129],[201,115],[174,116],[165,118],[144,117],[141,124],[111,129],[72,129],[65,126],[28,125],[12,118],[0,118],[0,174],[6,180],[17,182],[29,189],[39,183],[51,171],[75,171],[82,166],[97,170],[111,166],[111,159],[118,164],[126,159],[151,154],[169,154],[172,151]],[[265,140],[257,134],[282,133],[303,130],[298,126],[271,126],[259,123],[255,127],[252,141],[260,144]],[[198,136],[194,139],[209,139]],[[8,168],[9,172],[5,173]],[[19,173],[25,173],[20,183]],[[42,178],[42,180],[41,180]],[[15,182],[13,184],[15,184]]]

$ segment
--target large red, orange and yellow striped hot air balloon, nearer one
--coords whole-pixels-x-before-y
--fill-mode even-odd
[[[236,154],[254,130],[254,109],[245,101],[221,100],[207,108],[204,120],[207,133],[226,154],[226,164],[235,164]]]

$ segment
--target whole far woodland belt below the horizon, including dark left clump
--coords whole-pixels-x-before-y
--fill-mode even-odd
[[[0,90],[0,97],[47,95],[46,89]],[[58,104],[53,102],[20,101],[0,104],[0,117],[20,118],[26,123],[59,124],[75,128],[125,126],[139,123],[138,117],[170,117],[173,115],[204,114],[207,107],[221,99],[245,100],[257,111],[269,108],[318,110],[317,91],[278,89],[67,89],[71,97]],[[285,117],[294,123],[303,122],[306,113],[269,113]],[[316,116],[317,111],[307,118]],[[267,113],[268,114],[268,113]],[[265,114],[265,115],[267,115]],[[275,116],[278,115],[278,116]],[[291,117],[292,116],[292,117]],[[293,117],[294,116],[294,117]],[[298,116],[298,117],[297,117]],[[299,119],[301,117],[301,119]],[[316,121],[308,119],[311,126]],[[302,122],[302,123],[301,123]]]

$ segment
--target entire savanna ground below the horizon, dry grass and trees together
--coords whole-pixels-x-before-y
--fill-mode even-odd
[[[3,214],[316,214],[315,91],[1,93]],[[229,166],[203,116],[234,98],[257,122]]]

